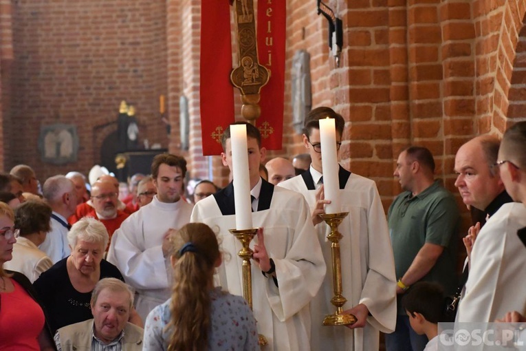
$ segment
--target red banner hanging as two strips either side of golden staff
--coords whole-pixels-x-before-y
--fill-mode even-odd
[[[228,0],[201,2],[199,92],[204,155],[221,153],[221,134],[234,122],[229,3]],[[283,141],[285,93],[285,1],[260,0],[257,13],[258,60],[270,71],[270,79],[261,88],[261,116],[256,127],[261,131],[263,147],[279,150]]]

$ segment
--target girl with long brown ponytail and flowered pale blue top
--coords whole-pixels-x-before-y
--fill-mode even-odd
[[[143,350],[259,350],[256,321],[248,304],[214,287],[221,253],[212,229],[189,223],[169,235],[172,297],[146,318]]]

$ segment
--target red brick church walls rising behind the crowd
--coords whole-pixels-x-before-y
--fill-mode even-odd
[[[526,32],[525,1],[326,2],[344,23],[342,65],[336,67],[329,53],[327,23],[316,15],[315,3],[287,1],[284,145],[267,158],[305,150],[292,129],[288,81],[292,57],[304,49],[311,55],[313,106],[330,105],[347,121],[342,163],[373,178],[386,206],[399,192],[393,161],[409,144],[433,151],[437,176],[456,193],[458,147],[476,134],[500,135],[509,120],[526,116],[526,44],[520,36]],[[12,107],[2,116],[3,127],[23,130],[4,138],[0,161],[32,164],[41,180],[72,168],[87,171],[98,162],[102,139],[116,129],[118,103],[127,98],[138,107],[142,138],[188,157],[193,176],[208,178],[212,169],[213,178],[226,183],[219,157],[201,155],[199,0],[1,0],[0,6],[13,18],[12,24],[8,16],[0,21],[1,110],[6,114],[6,96]],[[6,56],[11,25],[12,78]],[[167,96],[169,144],[158,113],[160,94]],[[190,107],[187,152],[179,149],[182,94]],[[236,104],[239,118],[238,98]],[[52,123],[78,126],[77,164],[50,167],[39,160],[39,129]]]

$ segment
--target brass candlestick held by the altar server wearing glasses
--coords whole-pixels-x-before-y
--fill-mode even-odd
[[[344,315],[342,306],[347,302],[347,299],[342,295],[342,264],[340,262],[340,240],[343,235],[338,231],[338,226],[342,220],[349,215],[349,212],[342,213],[325,213],[319,215],[331,227],[331,233],[327,235],[327,239],[331,242],[331,256],[332,256],[332,278],[334,297],[331,299],[331,304],[336,306],[336,312],[333,315],[325,316],[323,319],[324,326],[348,326],[356,323],[356,317],[353,315]]]

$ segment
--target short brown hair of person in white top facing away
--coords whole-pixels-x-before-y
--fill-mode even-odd
[[[18,206],[14,213],[14,227],[20,229],[20,235],[28,235],[51,229],[52,209],[42,200],[28,200]]]

